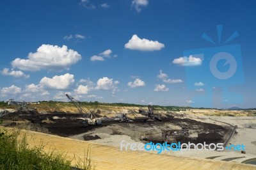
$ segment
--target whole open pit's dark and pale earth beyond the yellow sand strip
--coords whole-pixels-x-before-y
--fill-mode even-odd
[[[102,125],[89,126],[84,121],[83,114],[57,111],[15,111],[9,112],[1,119],[4,120],[5,127],[33,130],[116,148],[120,147],[122,140],[129,143],[161,143],[163,130],[181,130],[186,127],[189,129],[189,135],[172,136],[169,142],[244,143],[246,155],[241,154],[241,151],[184,151],[163,154],[236,162],[256,157],[256,138],[253,135],[256,133],[255,116],[205,116],[198,113],[164,112],[160,114],[162,121],[143,122],[134,119],[134,115],[141,115],[132,110],[127,112],[127,117],[131,121],[120,123],[119,120],[115,120],[119,114],[98,112],[96,115],[102,118]]]

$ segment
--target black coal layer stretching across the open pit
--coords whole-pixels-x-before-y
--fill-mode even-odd
[[[54,119],[54,117],[56,117]],[[40,114],[36,111],[28,111],[28,112],[13,112],[6,115],[5,119],[20,119],[20,120],[29,120],[34,125],[42,126],[47,128],[48,133],[57,134],[63,137],[68,137],[69,135],[81,134],[84,132],[88,132],[95,128],[99,128],[98,126],[88,126],[84,123],[84,120],[79,118],[83,118],[83,114],[74,114],[74,113],[65,113],[65,112],[52,112],[51,114]],[[45,121],[48,120],[48,121]],[[52,122],[51,122],[52,121]],[[48,123],[47,123],[48,122]],[[230,127],[221,127],[220,125],[214,125],[211,123],[203,123],[200,121],[190,120],[188,118],[180,119],[180,118],[163,118],[163,121],[153,121],[147,122],[146,124],[140,120],[132,122],[132,125],[144,126],[144,125],[152,125],[157,126],[159,129],[162,128],[164,123],[173,123],[174,125],[182,127],[183,125],[188,125],[188,127],[194,127],[193,131],[198,131],[198,137],[189,137],[189,136],[175,136],[172,139],[168,139],[167,142],[170,143],[224,143],[230,139],[230,134],[232,129]],[[102,125],[100,127],[119,124],[116,120],[105,120],[102,121]],[[197,127],[197,129],[195,129]],[[129,128],[129,127],[126,127]],[[31,129],[34,130],[35,128]],[[40,132],[40,128],[38,128]],[[37,131],[37,130],[36,130]],[[44,130],[45,132],[45,130]],[[233,131],[234,132],[234,131]],[[122,135],[122,134],[121,134]],[[125,134],[126,135],[126,134]],[[87,140],[92,140],[93,138],[88,138]],[[147,141],[152,141],[154,143],[163,143],[163,139],[159,137],[152,136],[151,139]],[[143,141],[143,142],[147,142]]]

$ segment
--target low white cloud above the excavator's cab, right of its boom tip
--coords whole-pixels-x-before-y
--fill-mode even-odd
[[[115,94],[118,89],[116,86],[118,83],[118,81],[113,81],[113,79],[109,79],[108,77],[102,77],[97,81],[95,89],[112,90],[112,93]]]

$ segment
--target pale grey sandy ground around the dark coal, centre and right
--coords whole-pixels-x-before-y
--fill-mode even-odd
[[[244,144],[246,146],[246,154],[242,154],[241,151],[209,151],[209,150],[188,150],[188,151],[163,151],[162,155],[175,155],[182,157],[196,157],[196,158],[209,158],[214,157],[214,160],[225,160],[226,158],[233,158],[230,160],[232,162],[243,162],[244,160],[248,160],[250,158],[256,158],[256,117],[248,117],[248,116],[195,116],[189,115],[188,118],[191,118],[196,121],[204,121],[207,123],[214,123],[216,125],[225,125],[225,123],[221,123],[220,121],[229,123],[231,125],[237,125],[237,134],[234,135],[229,141],[230,144]],[[211,118],[211,119],[209,119]],[[153,132],[157,132],[157,129],[151,127]],[[174,127],[175,128],[175,127]],[[141,134],[145,132],[145,128],[138,129]],[[92,140],[91,143],[104,144],[108,146],[115,146],[120,150],[121,141],[125,140],[127,143],[141,143],[138,137],[134,137],[132,135],[113,135],[113,132],[122,132],[122,134],[129,134],[129,128],[124,129],[118,125],[111,125],[103,128],[96,128],[91,132],[86,132],[79,135],[72,135],[70,138],[84,140],[84,135],[97,135],[100,139]],[[131,132],[130,132],[131,133]],[[132,133],[131,133],[132,134]],[[139,135],[140,136],[140,135]],[[156,151],[151,151],[152,153],[156,153]]]

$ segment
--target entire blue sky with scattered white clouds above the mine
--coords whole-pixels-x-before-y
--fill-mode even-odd
[[[0,99],[256,107],[255,6],[1,1]]]

